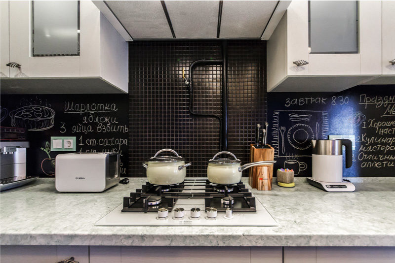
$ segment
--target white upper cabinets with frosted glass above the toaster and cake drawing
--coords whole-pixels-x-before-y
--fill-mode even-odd
[[[0,12],[2,93],[128,92],[128,43],[92,1],[1,1]]]

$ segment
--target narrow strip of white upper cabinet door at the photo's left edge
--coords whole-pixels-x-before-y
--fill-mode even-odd
[[[0,77],[9,76],[8,1],[0,1]]]

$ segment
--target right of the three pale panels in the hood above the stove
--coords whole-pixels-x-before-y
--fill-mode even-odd
[[[221,38],[261,37],[277,1],[224,1]]]

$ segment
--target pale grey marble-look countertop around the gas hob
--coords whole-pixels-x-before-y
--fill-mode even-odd
[[[277,227],[98,227],[95,222],[141,187],[130,178],[103,193],[58,193],[53,178],[0,194],[2,245],[395,246],[395,178],[349,178],[354,193],[295,188],[253,194]],[[248,178],[243,178],[247,183]],[[249,187],[249,186],[248,186]]]

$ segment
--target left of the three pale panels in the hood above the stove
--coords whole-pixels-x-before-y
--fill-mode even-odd
[[[133,39],[172,38],[160,1],[106,1]]]

